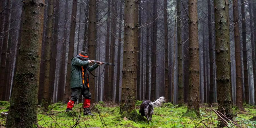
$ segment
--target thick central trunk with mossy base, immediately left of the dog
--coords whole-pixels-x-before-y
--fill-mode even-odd
[[[120,114],[129,120],[136,120],[137,110],[135,110],[136,83],[131,80],[135,76],[135,44],[134,44],[134,1],[125,1],[124,4],[124,47],[123,47],[123,84]]]

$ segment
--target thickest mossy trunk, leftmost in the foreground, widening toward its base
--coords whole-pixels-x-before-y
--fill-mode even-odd
[[[6,127],[38,127],[37,105],[44,0],[24,1],[24,22]]]

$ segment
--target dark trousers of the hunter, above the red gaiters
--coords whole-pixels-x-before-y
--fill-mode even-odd
[[[90,89],[87,86],[79,87],[79,88],[71,88],[72,94],[71,94],[71,100],[77,101],[79,99],[79,96],[82,94],[85,99],[91,99],[91,93]]]

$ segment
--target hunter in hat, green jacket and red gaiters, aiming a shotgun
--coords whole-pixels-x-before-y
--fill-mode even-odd
[[[92,61],[89,60],[88,54],[84,51],[72,58],[70,80],[70,88],[72,90],[72,94],[71,99],[67,103],[66,112],[72,110],[75,102],[78,100],[80,94],[82,94],[84,96],[84,115],[93,115],[89,109],[91,103],[89,73],[103,63],[95,63],[94,65],[89,66],[90,63],[92,63]]]

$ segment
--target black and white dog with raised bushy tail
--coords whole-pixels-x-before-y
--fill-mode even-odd
[[[139,113],[147,118],[147,121],[151,121],[154,107],[160,107],[162,102],[165,102],[164,96],[159,97],[155,102],[150,100],[144,100],[141,104]]]

